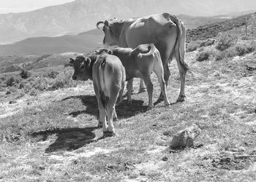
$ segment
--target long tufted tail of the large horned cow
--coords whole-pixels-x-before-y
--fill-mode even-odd
[[[181,23],[180,20],[178,20],[178,18],[175,15],[170,15],[170,20],[173,21],[173,23],[176,24],[176,31],[177,31],[177,36],[176,36],[176,41],[173,47],[172,52],[170,53],[170,58],[169,60],[173,59],[173,55],[175,54],[175,51],[178,51],[178,59],[177,61],[179,61],[181,63],[181,66],[184,68],[185,71],[189,71],[189,66],[187,65],[187,63],[185,63],[184,58],[182,58],[181,56],[181,36],[183,33],[186,33],[185,27],[184,25]],[[185,42],[184,42],[185,44]]]

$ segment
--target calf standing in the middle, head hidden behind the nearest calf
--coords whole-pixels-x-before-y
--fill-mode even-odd
[[[148,109],[153,108],[152,94],[153,84],[151,82],[151,73],[157,75],[161,91],[164,95],[165,106],[169,106],[169,100],[166,96],[166,85],[164,80],[164,70],[162,67],[162,60],[159,51],[154,44],[140,44],[132,50],[132,48],[124,47],[104,47],[96,51],[98,54],[108,52],[108,54],[116,55],[123,63],[126,71],[127,80],[132,78],[140,78],[146,84],[148,90]],[[132,102],[132,82],[127,84],[127,100],[128,103]]]

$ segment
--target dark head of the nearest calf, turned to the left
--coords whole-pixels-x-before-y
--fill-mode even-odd
[[[91,59],[79,55],[75,58],[69,58],[70,66],[74,67],[72,79],[86,81],[91,79]]]

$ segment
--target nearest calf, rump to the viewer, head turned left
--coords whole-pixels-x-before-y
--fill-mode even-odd
[[[115,55],[103,53],[89,57],[80,55],[75,60],[70,58],[69,63],[75,70],[72,79],[93,81],[99,107],[99,127],[103,125],[103,136],[116,135],[113,116],[116,116],[116,104],[122,101],[126,80],[121,61]]]

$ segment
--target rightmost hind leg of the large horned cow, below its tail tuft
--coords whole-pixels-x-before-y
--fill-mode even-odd
[[[184,99],[185,98],[185,77],[187,74],[187,68],[185,68],[185,66],[181,64],[181,59],[184,60],[184,54],[181,53],[181,55],[179,55],[178,51],[176,51],[175,56],[176,56],[178,71],[179,71],[180,80],[181,80],[181,90],[178,95],[177,102],[183,102],[185,100]],[[181,58],[180,58],[180,56],[181,56]]]

